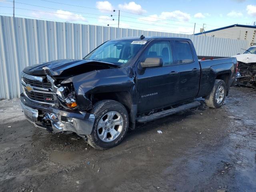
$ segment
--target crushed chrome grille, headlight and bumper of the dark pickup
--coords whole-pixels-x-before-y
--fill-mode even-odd
[[[36,128],[52,133],[90,135],[94,115],[80,111],[72,84],[61,85],[48,75],[22,72],[20,95],[22,110]]]

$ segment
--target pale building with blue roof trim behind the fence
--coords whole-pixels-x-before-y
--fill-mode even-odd
[[[250,46],[252,46],[256,45],[255,34],[256,26],[234,24],[218,29],[196,33],[195,35],[248,40],[250,42]]]

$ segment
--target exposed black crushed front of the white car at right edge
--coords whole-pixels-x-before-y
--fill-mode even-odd
[[[238,62],[236,85],[256,88],[256,63]]]

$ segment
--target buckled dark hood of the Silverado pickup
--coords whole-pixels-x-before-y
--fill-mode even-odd
[[[45,62],[40,65],[33,65],[24,68],[24,72],[30,75],[50,75],[62,76],[63,78],[90,72],[93,70],[102,70],[109,68],[117,68],[111,63],[94,61],[94,60],[77,60],[77,59],[62,59],[51,62]]]

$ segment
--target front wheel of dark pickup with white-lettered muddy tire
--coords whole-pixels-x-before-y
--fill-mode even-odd
[[[129,127],[126,108],[114,100],[102,100],[94,105],[91,114],[94,114],[95,121],[92,133],[86,135],[88,144],[98,150],[120,144]]]

